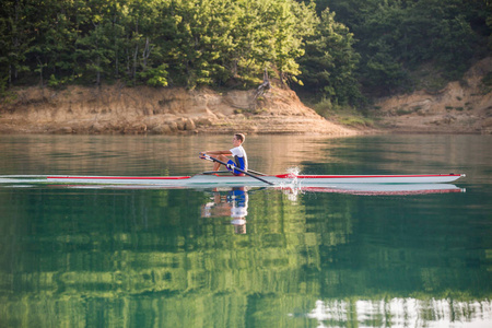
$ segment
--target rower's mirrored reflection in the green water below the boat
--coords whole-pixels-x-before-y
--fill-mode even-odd
[[[213,202],[202,207],[203,218],[231,216],[231,224],[237,234],[246,233],[246,215],[248,214],[248,192],[245,187],[232,188],[227,196],[214,192]]]

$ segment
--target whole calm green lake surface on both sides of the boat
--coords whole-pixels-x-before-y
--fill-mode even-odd
[[[0,136],[0,175],[190,175],[211,168],[199,151],[231,143]],[[466,192],[0,185],[0,327],[491,327],[491,144],[245,143],[260,172],[466,173]]]

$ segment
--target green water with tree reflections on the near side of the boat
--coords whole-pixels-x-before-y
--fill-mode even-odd
[[[466,250],[481,247],[466,245],[473,232],[422,201],[462,195],[301,192],[293,202],[274,189],[69,191],[0,189],[0,318],[10,326],[491,320],[489,260]],[[246,218],[237,236],[230,223]],[[436,249],[454,230],[462,237]]]

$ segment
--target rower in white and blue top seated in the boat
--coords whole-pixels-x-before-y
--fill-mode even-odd
[[[232,172],[232,174],[237,176],[244,176],[244,173],[241,173],[236,169],[233,169],[231,167],[237,167],[243,171],[248,171],[248,157],[246,155],[246,151],[243,148],[243,143],[245,141],[246,137],[243,133],[236,133],[233,138],[233,145],[234,148],[230,150],[224,151],[206,151],[201,152],[200,156],[203,159],[203,155],[212,155],[215,156],[218,160],[227,163],[226,168]],[[234,156],[234,161],[229,159],[227,156]],[[214,162],[213,163],[213,171],[219,171],[222,163]]]

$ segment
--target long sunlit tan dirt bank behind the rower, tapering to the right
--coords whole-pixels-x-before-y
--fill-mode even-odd
[[[319,133],[356,131],[332,124],[290,90],[256,91],[70,86],[15,91],[0,109],[3,133]]]

